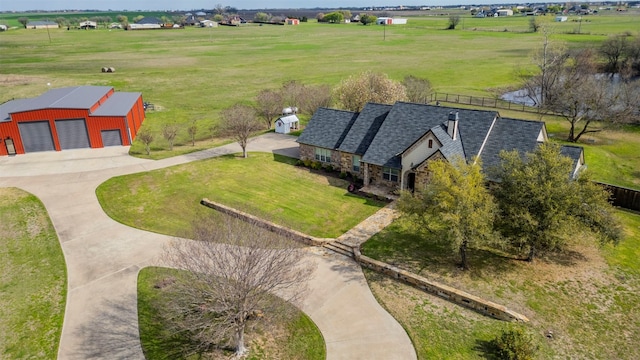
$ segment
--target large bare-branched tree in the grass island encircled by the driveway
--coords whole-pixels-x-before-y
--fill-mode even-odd
[[[253,223],[225,216],[199,222],[194,233],[198,241],[176,240],[165,250],[170,266],[188,271],[175,278],[165,313],[194,351],[230,346],[241,356],[252,319],[282,315],[274,295],[299,302],[314,267],[302,262],[298,244]]]

